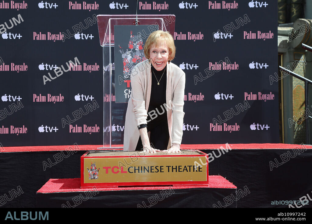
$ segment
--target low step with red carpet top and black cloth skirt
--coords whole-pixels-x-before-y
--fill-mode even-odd
[[[37,208],[237,207],[224,198],[237,187],[222,176],[209,176],[208,185],[135,186],[80,189],[80,178],[50,179],[36,193]]]

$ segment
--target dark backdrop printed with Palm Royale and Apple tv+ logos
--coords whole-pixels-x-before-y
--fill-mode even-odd
[[[136,5],[0,2],[0,146],[100,145],[107,131],[123,144],[125,103],[113,102],[112,128],[103,125],[96,16],[135,14]],[[277,1],[139,1],[138,14],[176,16],[182,144],[279,142]]]

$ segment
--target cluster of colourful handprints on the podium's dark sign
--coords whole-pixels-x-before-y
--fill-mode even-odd
[[[132,31],[130,31],[130,39],[128,44],[128,49],[124,51],[122,47],[119,45],[119,52],[123,58],[124,63],[124,78],[128,79],[131,74],[131,70],[134,66],[141,61],[146,60],[144,56],[144,44],[143,40],[138,35],[133,35]]]

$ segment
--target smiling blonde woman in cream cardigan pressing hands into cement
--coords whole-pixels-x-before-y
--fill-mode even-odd
[[[181,153],[185,73],[170,62],[175,56],[173,37],[164,31],[151,33],[144,54],[148,60],[130,75],[124,150]]]

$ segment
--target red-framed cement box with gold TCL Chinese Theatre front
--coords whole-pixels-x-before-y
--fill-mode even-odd
[[[81,188],[208,184],[207,154],[199,150],[181,151],[86,152],[80,158]]]

